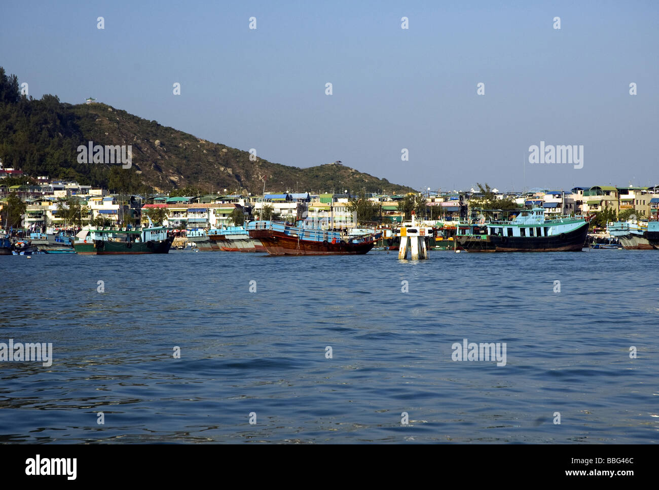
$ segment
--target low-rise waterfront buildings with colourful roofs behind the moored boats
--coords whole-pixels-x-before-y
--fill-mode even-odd
[[[8,186],[3,184],[6,177],[22,176],[20,170],[2,168],[0,163],[0,211],[7,204],[7,198],[14,194],[25,204],[22,228],[30,231],[43,231],[45,228],[67,228],[98,223],[104,226],[126,226],[140,223],[142,214],[154,208],[166,209],[163,225],[169,228],[216,228],[235,224],[236,213],[244,219],[263,217],[268,219],[295,222],[304,217],[333,215],[335,227],[352,225],[353,213],[349,209],[351,199],[359,192],[354,190],[317,190],[316,192],[291,192],[277,189],[261,196],[245,192],[231,192],[224,189],[215,194],[198,196],[173,196],[154,194],[134,196],[113,194],[107,189],[93,188],[78,182],[36,177],[36,184]],[[633,210],[639,218],[656,220],[659,209],[659,185],[654,187],[632,186],[575,186],[569,190],[531,188],[525,192],[503,192],[491,190],[497,200],[511,200],[520,208],[539,206],[544,208],[546,217],[556,215],[589,215],[608,210],[613,213]],[[473,215],[474,202],[484,196],[479,190],[427,190],[415,194],[422,198],[426,209],[423,221],[458,221],[476,217]],[[378,209],[376,221],[383,224],[401,223],[405,211],[401,202],[405,195],[364,193],[364,197]],[[65,209],[74,200],[82,209],[74,222],[67,222]],[[418,211],[417,211],[418,213]],[[240,220],[242,224],[244,219]],[[4,225],[4,223],[3,223]]]

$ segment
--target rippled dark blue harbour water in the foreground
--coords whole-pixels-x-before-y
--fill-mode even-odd
[[[0,362],[0,442],[655,443],[658,265],[3,257],[0,342],[52,342],[53,360]],[[505,342],[505,366],[454,361],[463,339]]]

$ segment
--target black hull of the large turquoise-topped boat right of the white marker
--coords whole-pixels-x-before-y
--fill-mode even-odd
[[[588,223],[556,236],[459,236],[467,252],[581,252],[586,244]]]

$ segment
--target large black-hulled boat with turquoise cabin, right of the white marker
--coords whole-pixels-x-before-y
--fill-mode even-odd
[[[510,221],[460,223],[455,238],[467,252],[578,252],[587,234],[585,217],[546,219],[544,208],[534,207]]]

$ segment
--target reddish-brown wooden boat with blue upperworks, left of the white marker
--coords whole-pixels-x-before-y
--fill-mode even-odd
[[[252,225],[253,223],[253,225]],[[362,255],[368,253],[381,234],[364,234],[349,238],[338,231],[323,230],[272,221],[252,221],[249,236],[260,240],[270,255]]]

